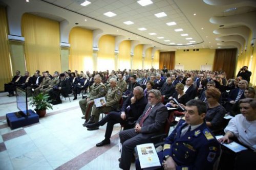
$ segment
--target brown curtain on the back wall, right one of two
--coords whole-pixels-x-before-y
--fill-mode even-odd
[[[217,49],[214,58],[215,71],[225,71],[227,79],[234,77],[234,68],[236,66],[237,48]]]

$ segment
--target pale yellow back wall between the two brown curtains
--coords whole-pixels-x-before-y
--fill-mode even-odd
[[[178,50],[175,53],[175,65],[184,65],[184,70],[200,70],[201,65],[214,65],[215,50],[199,49],[199,51],[183,52]],[[206,64],[207,63],[207,64]]]

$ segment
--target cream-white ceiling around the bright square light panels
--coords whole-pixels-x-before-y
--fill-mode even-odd
[[[3,1],[3,0],[1,0]],[[19,0],[25,1],[25,0]],[[92,30],[96,29],[112,29],[108,32],[113,32],[112,35],[122,35],[127,39],[131,37],[131,33],[138,39],[143,37],[146,39],[145,44],[152,44],[153,46],[160,47],[161,50],[170,49],[184,49],[184,48],[225,48],[225,47],[242,47],[246,46],[246,37],[240,36],[241,33],[232,33],[231,35],[237,35],[231,40],[224,38],[227,41],[222,42],[222,36],[226,34],[215,34],[214,31],[218,29],[227,28],[239,28],[246,27],[244,31],[255,31],[253,25],[251,27],[243,22],[238,23],[223,23],[223,20],[210,22],[211,17],[219,17],[221,19],[228,17],[237,16],[238,18],[243,15],[243,17],[252,17],[251,20],[256,17],[256,1],[255,0],[152,0],[153,4],[147,6],[140,6],[137,0],[89,0],[90,5],[83,7],[80,2],[83,0],[30,0],[41,1],[47,3],[50,6],[57,6],[65,9],[63,12],[73,11],[85,19],[95,19],[104,23],[107,23],[114,27],[102,28],[97,25],[87,25],[86,22],[79,23],[77,26],[90,28]],[[211,4],[211,5],[208,5]],[[43,7],[42,7],[43,8]],[[45,6],[44,6],[45,8]],[[224,12],[227,9],[236,8],[235,10]],[[47,11],[47,9],[46,9]],[[105,12],[114,12],[116,16],[108,17],[103,15]],[[154,14],[164,12],[167,14],[165,17],[157,18]],[[65,20],[65,15],[63,18],[59,15],[52,15],[46,13],[30,12],[35,15],[44,16],[53,20],[62,21]],[[251,15],[252,13],[252,15]],[[196,15],[194,15],[196,14]],[[248,15],[247,15],[248,14]],[[249,15],[250,14],[250,15]],[[125,25],[124,21],[133,21],[133,25]],[[243,20],[243,18],[242,18]],[[167,26],[166,22],[175,21],[177,25]],[[74,18],[74,23],[77,22]],[[227,21],[228,22],[228,21]],[[255,21],[254,21],[255,22]],[[72,23],[72,24],[74,24]],[[219,27],[224,25],[223,27]],[[139,31],[138,28],[146,28],[146,31]],[[249,27],[249,29],[248,29]],[[182,32],[175,32],[175,29],[182,28]],[[254,29],[254,30],[253,30]],[[124,30],[124,31],[123,31]],[[149,33],[156,33],[157,35],[149,35]],[[181,34],[188,34],[188,36],[181,36]],[[244,35],[249,35],[249,33],[244,33]],[[239,37],[240,36],[240,37]],[[164,37],[163,39],[158,39],[157,37]],[[186,38],[192,38],[186,40]],[[241,39],[242,38],[242,39]],[[255,37],[253,37],[255,38]],[[248,37],[247,37],[248,39]],[[169,41],[164,41],[169,40]],[[241,42],[242,40],[242,42]],[[192,45],[187,45],[187,43],[192,42]],[[231,44],[242,44],[241,46],[230,45]],[[232,43],[232,41],[236,43]],[[239,41],[239,42],[238,42]],[[250,41],[250,40],[249,40]],[[175,44],[169,44],[174,42]],[[182,44],[182,45],[177,45]],[[221,44],[221,45],[218,45]]]

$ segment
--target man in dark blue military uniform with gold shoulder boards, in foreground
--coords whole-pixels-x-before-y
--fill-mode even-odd
[[[212,169],[220,144],[204,121],[206,106],[200,100],[190,100],[185,108],[185,121],[179,122],[158,153],[160,163],[164,169]],[[136,169],[140,169],[138,160]]]

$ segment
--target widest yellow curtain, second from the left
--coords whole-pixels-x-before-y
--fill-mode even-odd
[[[59,22],[24,14],[22,33],[25,37],[27,70],[60,71]]]

